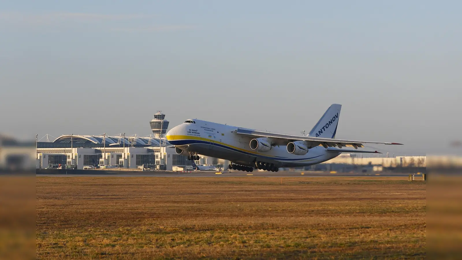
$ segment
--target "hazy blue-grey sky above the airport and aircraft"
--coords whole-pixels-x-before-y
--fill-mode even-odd
[[[150,134],[162,110],[288,134],[461,140],[459,1],[1,1],[0,132]],[[462,150],[462,148],[459,148]]]

